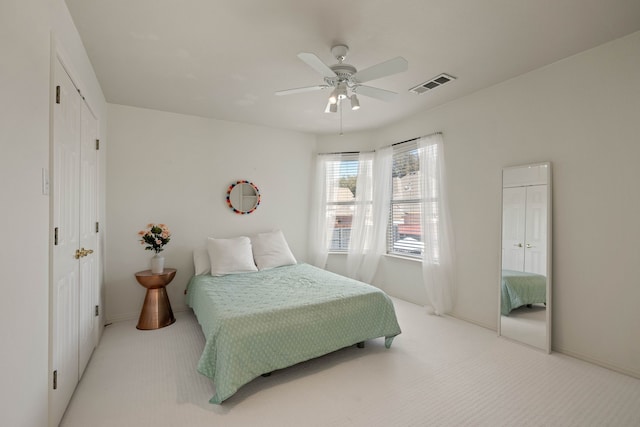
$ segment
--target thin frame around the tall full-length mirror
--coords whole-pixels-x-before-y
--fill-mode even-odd
[[[545,333],[546,333],[546,337],[545,337],[545,347],[538,347],[535,345],[531,345],[522,341],[518,341],[517,339],[508,337],[506,335],[502,334],[502,313],[501,313],[501,304],[502,304],[502,263],[503,263],[503,239],[504,239],[504,175],[506,171],[509,170],[514,170],[514,169],[520,169],[520,168],[525,168],[525,167],[535,167],[535,166],[543,166],[546,165],[547,166],[547,266],[546,266],[546,278],[547,278],[547,283],[546,283],[546,310],[545,310],[545,320],[546,320],[546,325],[545,325]],[[510,166],[510,167],[505,167],[502,169],[502,173],[501,173],[501,188],[500,188],[500,255],[499,255],[499,270],[498,270],[498,277],[500,278],[498,281],[498,336],[502,336],[504,338],[516,341],[516,342],[522,342],[525,345],[529,345],[532,348],[536,348],[536,349],[541,349],[543,351],[545,351],[546,353],[551,353],[551,331],[552,331],[552,323],[551,323],[551,313],[553,310],[553,304],[552,304],[552,248],[553,248],[553,239],[552,239],[552,231],[553,231],[553,221],[552,221],[552,217],[553,217],[553,209],[552,209],[552,195],[553,195],[553,185],[552,185],[552,171],[551,171],[551,162],[539,162],[539,163],[531,163],[531,164],[525,164],[525,165],[518,165],[518,166]]]

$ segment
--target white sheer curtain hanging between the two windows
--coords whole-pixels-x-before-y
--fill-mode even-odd
[[[380,256],[386,252],[391,200],[393,148],[361,153],[358,159],[356,204],[347,254],[347,275],[371,283]]]

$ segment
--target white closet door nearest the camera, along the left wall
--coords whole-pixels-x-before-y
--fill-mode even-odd
[[[78,382],[80,108],[62,65],[54,72],[52,203],[54,244],[51,292],[50,423],[58,425]],[[55,388],[55,389],[53,389]]]

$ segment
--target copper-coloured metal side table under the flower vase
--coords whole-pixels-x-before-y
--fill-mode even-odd
[[[138,283],[147,288],[136,328],[160,329],[176,321],[166,290],[166,286],[175,276],[175,268],[165,268],[162,273],[152,273],[151,270],[136,273]]]

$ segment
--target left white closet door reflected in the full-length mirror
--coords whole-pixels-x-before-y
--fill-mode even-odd
[[[525,249],[526,188],[505,188],[502,197],[502,268],[522,271]]]

